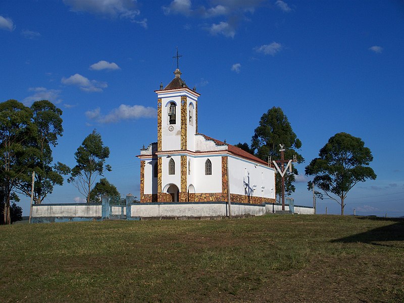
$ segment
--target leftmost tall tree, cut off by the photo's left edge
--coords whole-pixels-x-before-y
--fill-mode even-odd
[[[10,196],[27,171],[34,153],[32,111],[17,100],[0,103],[0,182],[4,189],[4,222],[11,224]]]

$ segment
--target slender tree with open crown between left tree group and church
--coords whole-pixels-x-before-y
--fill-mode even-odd
[[[110,156],[110,148],[104,146],[101,135],[94,129],[77,148],[74,158],[77,165],[72,169],[71,176],[67,180],[73,183],[79,192],[90,203],[91,187],[98,176],[104,172],[105,160]],[[107,171],[111,171],[110,165],[105,165]]]

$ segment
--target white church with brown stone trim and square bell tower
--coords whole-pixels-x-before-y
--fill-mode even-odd
[[[181,79],[157,93],[157,142],[140,150],[140,203],[275,203],[275,169],[198,133],[198,97]]]

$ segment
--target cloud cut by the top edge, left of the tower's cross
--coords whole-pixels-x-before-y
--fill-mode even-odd
[[[129,19],[147,27],[147,19],[135,20],[140,15],[140,11],[136,8],[136,0],[63,0],[63,2],[73,12],[88,12],[111,18]]]

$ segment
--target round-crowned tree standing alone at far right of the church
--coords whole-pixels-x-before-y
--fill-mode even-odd
[[[320,149],[319,158],[313,159],[305,172],[314,176],[314,184],[326,196],[337,201],[343,215],[348,191],[358,182],[376,179],[375,172],[369,167],[372,160],[372,153],[361,138],[341,132],[328,139]]]

